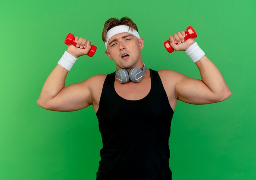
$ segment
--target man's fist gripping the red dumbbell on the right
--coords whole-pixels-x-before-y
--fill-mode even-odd
[[[195,41],[192,38],[184,41],[185,31],[177,32],[169,37],[170,46],[175,51],[186,51]],[[177,43],[177,44],[176,44]]]

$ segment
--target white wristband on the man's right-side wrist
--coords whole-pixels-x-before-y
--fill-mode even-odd
[[[198,46],[197,42],[194,42],[185,53],[192,59],[193,62],[198,62],[204,55],[204,51]]]

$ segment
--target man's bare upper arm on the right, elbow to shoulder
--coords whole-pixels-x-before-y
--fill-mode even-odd
[[[202,80],[179,75],[175,87],[177,99],[190,104],[210,104],[216,102],[214,93]]]

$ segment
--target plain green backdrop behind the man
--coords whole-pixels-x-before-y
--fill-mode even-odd
[[[182,51],[163,42],[193,26],[232,96],[216,104],[178,102],[171,125],[173,180],[256,178],[254,0],[67,1],[3,0],[0,6],[0,179],[94,180],[102,147],[92,106],[73,112],[36,104],[43,84],[67,49],[67,33],[91,40],[65,85],[115,71],[101,40],[110,17],[132,18],[144,38],[142,58],[155,70],[200,78]]]

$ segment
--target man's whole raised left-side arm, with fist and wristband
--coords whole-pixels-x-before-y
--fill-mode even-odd
[[[91,48],[90,41],[78,37],[75,37],[75,40],[77,47],[72,44],[68,46],[68,53],[64,53],[63,58],[45,81],[37,100],[40,107],[52,111],[76,111],[92,104],[91,88],[94,83],[91,82],[97,76],[65,87],[67,73],[72,67],[70,62],[75,62],[79,56],[87,54]],[[82,49],[83,47],[85,49]]]

